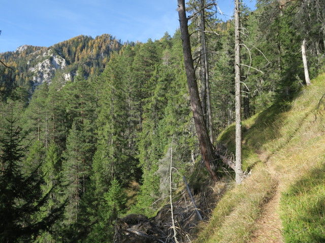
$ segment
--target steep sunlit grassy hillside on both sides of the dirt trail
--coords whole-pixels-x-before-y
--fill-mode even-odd
[[[243,169],[252,175],[223,196],[196,242],[251,242],[256,220],[275,192],[281,193],[285,242],[325,242],[325,117],[315,120],[325,74],[312,84],[293,102],[243,122]],[[219,137],[231,150],[234,130],[233,125]]]

